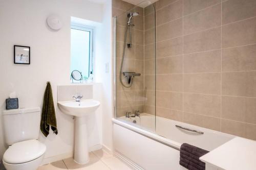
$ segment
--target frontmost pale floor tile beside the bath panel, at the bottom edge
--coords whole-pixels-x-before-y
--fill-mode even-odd
[[[101,161],[104,162],[109,168],[111,168],[111,170],[131,170],[132,169],[114,156],[101,159]]]

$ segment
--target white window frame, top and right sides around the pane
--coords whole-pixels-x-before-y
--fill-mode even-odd
[[[90,32],[89,72],[88,72],[89,77],[88,78],[91,78],[91,76],[94,75],[94,72],[93,72],[94,71],[94,55],[93,55],[93,51],[94,51],[94,34],[93,34],[93,32],[94,32],[94,29],[90,28],[90,27],[87,27],[87,26],[78,26],[78,25],[74,25],[74,24],[71,25],[70,29]],[[90,74],[91,71],[93,73],[92,75]]]

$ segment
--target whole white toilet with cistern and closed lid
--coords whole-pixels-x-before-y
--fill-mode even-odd
[[[9,145],[3,156],[7,170],[36,170],[46,152],[38,141],[40,108],[3,111],[5,141]]]

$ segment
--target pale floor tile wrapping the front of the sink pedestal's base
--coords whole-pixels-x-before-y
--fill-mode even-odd
[[[85,165],[80,165],[74,161],[73,158],[64,159],[68,169],[77,169],[77,170],[110,170],[96,155],[90,153],[90,162]]]

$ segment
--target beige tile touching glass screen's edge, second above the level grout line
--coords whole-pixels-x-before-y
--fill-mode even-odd
[[[157,57],[168,57],[182,54],[182,37],[157,43]]]

